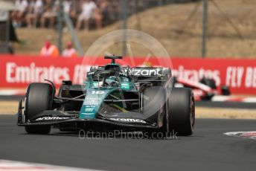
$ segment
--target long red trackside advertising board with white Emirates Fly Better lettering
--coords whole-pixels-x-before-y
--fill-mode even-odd
[[[172,67],[169,58],[146,57],[118,59],[121,65]],[[91,65],[105,65],[103,57],[63,58],[0,55],[0,88],[26,88],[29,83],[52,80],[60,86],[62,80],[83,83]],[[256,94],[256,59],[188,59],[171,58],[173,75],[199,81],[202,77],[226,85],[232,94]]]

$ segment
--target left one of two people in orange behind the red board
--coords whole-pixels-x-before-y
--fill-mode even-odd
[[[40,51],[40,56],[42,57],[59,57],[60,52],[58,48],[51,43],[49,39],[45,41],[45,45]]]

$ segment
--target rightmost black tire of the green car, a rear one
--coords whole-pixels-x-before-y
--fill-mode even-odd
[[[188,136],[193,133],[195,105],[191,88],[173,88],[168,101],[170,132]]]

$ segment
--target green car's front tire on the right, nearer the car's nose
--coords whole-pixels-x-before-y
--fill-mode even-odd
[[[148,120],[153,123],[159,123],[159,117],[161,118],[161,127],[159,129],[145,130],[144,135],[147,133],[148,138],[153,138],[152,135],[158,135],[157,139],[167,137],[167,118],[166,118],[166,103],[167,93],[166,89],[161,86],[154,86],[145,88],[142,93],[143,114],[147,115]],[[160,114],[160,115],[159,115]],[[158,133],[158,134],[156,134]]]

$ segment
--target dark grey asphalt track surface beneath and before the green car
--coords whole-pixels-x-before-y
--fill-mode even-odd
[[[178,140],[83,139],[27,135],[16,117],[0,115],[0,159],[97,170],[255,170],[256,141],[225,132],[254,131],[256,120],[196,120]]]

